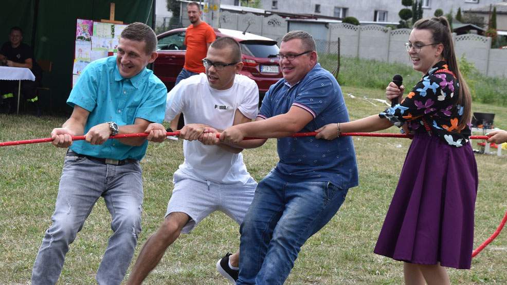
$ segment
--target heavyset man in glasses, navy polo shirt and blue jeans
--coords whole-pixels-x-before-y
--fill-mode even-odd
[[[245,148],[265,140],[242,142],[244,137],[278,138],[280,161],[257,185],[240,227],[237,284],[282,284],[304,242],[336,214],[348,189],[358,185],[350,137],[287,138],[328,122],[349,121],[340,86],[317,63],[315,49],[309,33],[287,33],[277,55],[283,79],[269,88],[256,121],[229,127],[220,136],[222,142]]]

